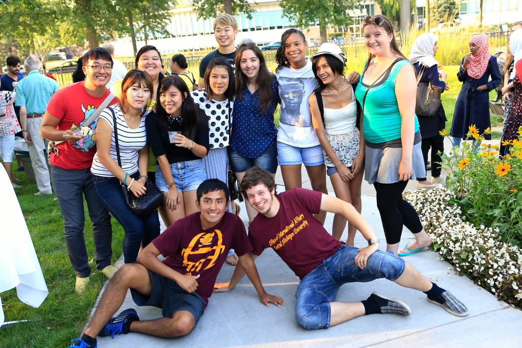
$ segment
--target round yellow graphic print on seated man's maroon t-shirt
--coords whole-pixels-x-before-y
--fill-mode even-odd
[[[192,241],[188,243],[186,248],[181,250],[183,266],[186,266],[187,272],[199,272],[204,263],[208,261],[207,266],[203,270],[209,269],[216,264],[218,256],[223,253],[224,249],[221,231],[215,230],[210,233],[199,233],[192,238]],[[196,262],[188,260],[190,256],[198,254],[208,254],[208,256],[204,258],[193,257],[198,258]]]

